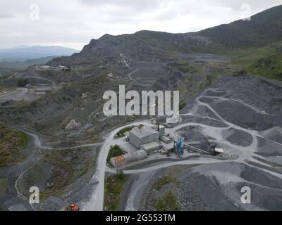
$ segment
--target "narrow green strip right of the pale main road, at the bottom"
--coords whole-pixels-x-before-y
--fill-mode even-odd
[[[117,211],[121,200],[121,193],[125,186],[128,176],[118,170],[116,175],[108,176],[105,180],[104,205],[108,211]]]

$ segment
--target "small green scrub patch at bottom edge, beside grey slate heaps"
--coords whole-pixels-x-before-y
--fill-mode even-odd
[[[178,198],[176,195],[173,195],[171,191],[168,191],[164,195],[164,197],[161,197],[157,200],[155,200],[154,207],[157,209],[157,211],[180,211],[181,207],[178,203]]]

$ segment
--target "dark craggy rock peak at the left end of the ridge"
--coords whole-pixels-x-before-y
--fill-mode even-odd
[[[102,60],[105,63],[123,61],[125,67],[128,67],[130,60],[153,60],[156,55],[152,46],[135,35],[111,36],[105,34],[100,39],[92,39],[80,53],[75,53],[70,57],[54,58],[47,65],[87,67]]]

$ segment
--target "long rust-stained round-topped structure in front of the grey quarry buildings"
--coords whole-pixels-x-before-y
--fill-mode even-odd
[[[145,150],[137,150],[132,153],[127,153],[125,155],[119,155],[117,157],[111,158],[111,164],[114,167],[120,167],[122,165],[126,165],[130,162],[136,162],[139,160],[144,160],[148,155]]]

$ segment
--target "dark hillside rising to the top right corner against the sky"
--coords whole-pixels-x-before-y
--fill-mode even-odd
[[[223,48],[264,46],[282,39],[282,5],[253,15],[251,20],[238,20],[198,32]]]

